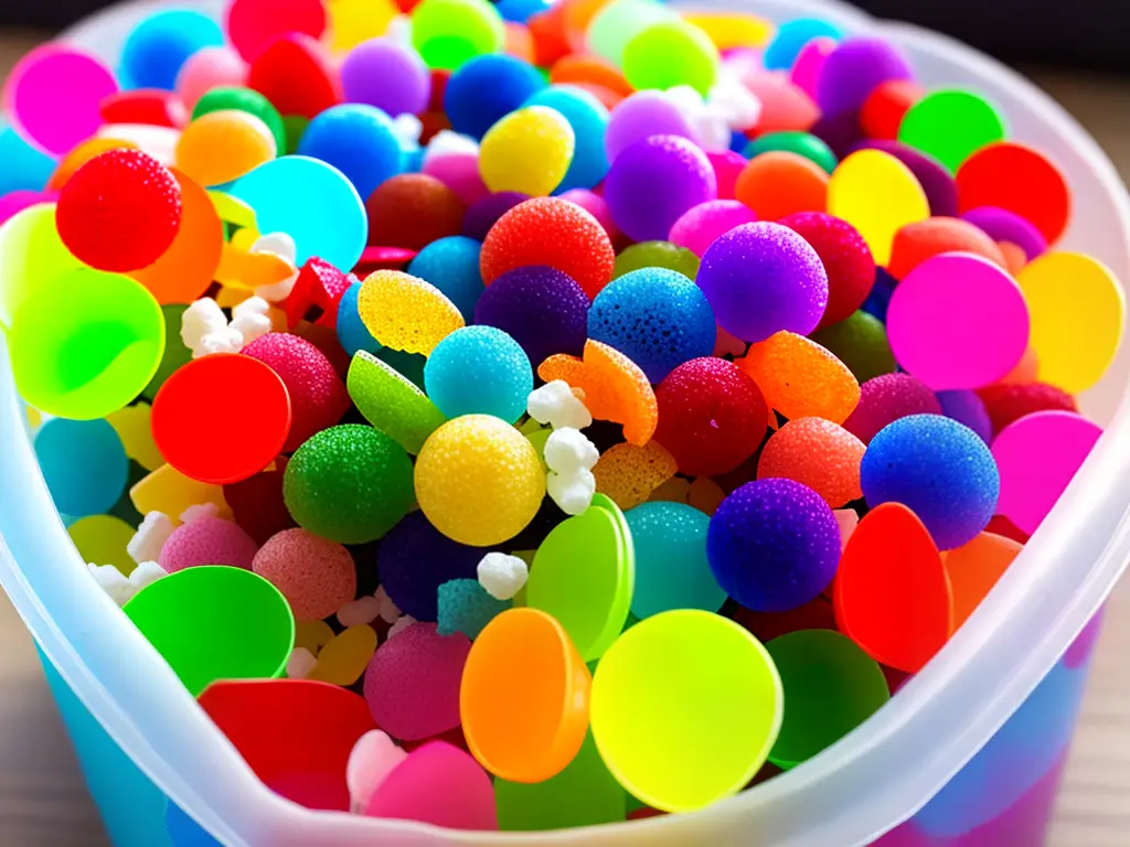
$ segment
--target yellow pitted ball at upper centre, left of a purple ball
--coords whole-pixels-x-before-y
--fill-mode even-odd
[[[546,197],[565,178],[575,143],[573,128],[557,110],[520,108],[483,137],[479,174],[490,191]]]

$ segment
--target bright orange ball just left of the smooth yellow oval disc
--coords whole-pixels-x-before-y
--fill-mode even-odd
[[[788,150],[770,150],[749,160],[733,186],[736,200],[758,220],[780,220],[802,211],[824,211],[828,204],[828,172],[809,158]]]

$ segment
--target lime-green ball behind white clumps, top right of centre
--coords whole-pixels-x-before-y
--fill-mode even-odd
[[[652,24],[624,46],[624,76],[638,90],[690,86],[705,97],[720,61],[710,36],[685,20]]]

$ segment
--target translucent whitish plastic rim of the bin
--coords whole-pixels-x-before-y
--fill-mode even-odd
[[[217,5],[195,6],[216,11]],[[1114,199],[1118,219],[1111,226],[1130,232],[1130,201],[1097,145],[1050,97],[970,47],[819,0],[693,5],[753,8],[777,20],[818,15],[852,32],[881,33],[909,49],[963,62],[980,78],[1011,89],[1080,152]],[[112,54],[139,7],[164,6],[172,3],[112,8],[71,38]],[[175,803],[233,847],[867,844],[910,818],[992,736],[1097,611],[1130,558],[1130,413],[1123,402],[1059,507],[998,588],[898,697],[843,741],[794,770],[693,814],[538,835],[455,832],[311,812],[254,777],[85,573],[25,435],[2,333],[0,434],[0,583],[43,652],[111,737]]]

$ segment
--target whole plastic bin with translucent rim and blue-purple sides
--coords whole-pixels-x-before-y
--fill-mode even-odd
[[[162,5],[115,8],[71,38],[113,59],[137,16]],[[948,38],[840,5],[699,6],[753,9],[779,21],[824,16],[899,44],[928,85],[982,90],[1016,138],[1064,167],[1077,201],[1064,246],[1130,280],[1130,201],[1121,181],[1079,125],[1018,75]],[[1110,425],[1090,460],[930,665],[820,756],[694,814],[547,835],[464,833],[310,812],[272,794],[85,573],[35,465],[2,333],[0,582],[36,639],[118,845],[850,847],[880,839],[884,847],[1027,847],[1042,840],[1070,741],[1097,632],[1088,621],[1130,557],[1130,418],[1124,403],[1114,414],[1125,393],[1125,352],[1083,399],[1087,413]]]

